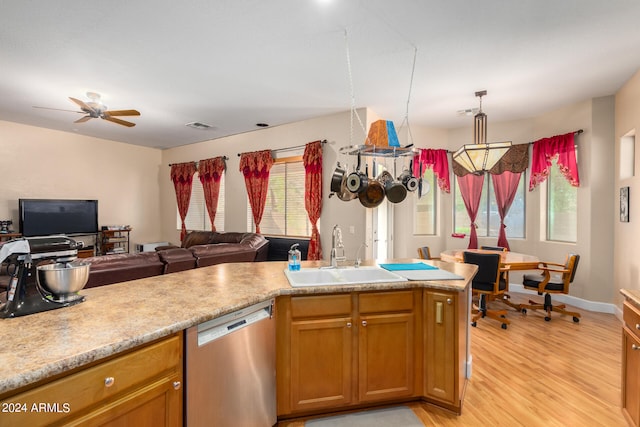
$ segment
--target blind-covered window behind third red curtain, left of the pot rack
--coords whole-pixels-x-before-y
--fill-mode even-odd
[[[260,222],[262,234],[311,236],[311,222],[304,206],[304,178],[302,157],[275,160],[269,172],[269,192]],[[247,229],[255,231],[249,203],[247,203]]]

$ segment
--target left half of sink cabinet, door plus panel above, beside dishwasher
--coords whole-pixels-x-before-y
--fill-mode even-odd
[[[281,297],[276,304],[278,412],[351,403],[351,296]]]

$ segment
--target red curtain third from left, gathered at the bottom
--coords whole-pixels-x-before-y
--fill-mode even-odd
[[[247,195],[256,224],[256,233],[260,233],[260,221],[264,212],[269,189],[269,171],[273,166],[271,150],[242,153],[240,156],[240,172],[244,175]]]

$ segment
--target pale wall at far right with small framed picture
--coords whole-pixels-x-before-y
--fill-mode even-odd
[[[614,195],[612,210],[614,211],[613,230],[614,242],[614,298],[619,307],[622,307],[620,289],[640,289],[640,169],[638,158],[640,146],[638,135],[640,131],[640,71],[635,74],[618,91],[615,97],[615,173],[614,184],[611,192]],[[636,136],[635,143],[635,175],[629,178],[620,178],[620,139],[628,134]],[[629,222],[620,222],[618,219],[618,206],[620,203],[620,187],[629,188]]]

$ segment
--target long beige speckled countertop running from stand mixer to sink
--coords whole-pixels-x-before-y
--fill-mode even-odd
[[[419,260],[391,262],[412,261]],[[0,394],[279,295],[414,287],[462,291],[476,270],[467,264],[425,262],[465,280],[292,288],[283,273],[286,262],[257,262],[84,289],[80,294],[86,301],[81,304],[0,319]]]

